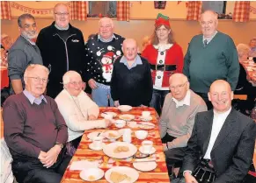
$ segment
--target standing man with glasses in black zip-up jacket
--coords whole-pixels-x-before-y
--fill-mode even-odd
[[[52,98],[62,91],[62,75],[69,70],[81,74],[85,61],[83,33],[69,24],[68,6],[56,4],[54,18],[52,25],[40,31],[36,41],[43,65],[50,70],[47,94]]]

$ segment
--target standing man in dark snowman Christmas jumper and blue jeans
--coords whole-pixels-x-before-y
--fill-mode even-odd
[[[122,55],[124,38],[113,33],[111,18],[99,19],[99,33],[86,44],[86,82],[91,87],[92,100],[102,106],[113,106],[110,94],[110,81],[114,60]]]

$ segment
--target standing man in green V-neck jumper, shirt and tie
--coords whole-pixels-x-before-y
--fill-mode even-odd
[[[190,88],[212,109],[208,89],[213,81],[228,81],[232,91],[238,84],[238,52],[230,36],[217,31],[214,11],[203,12],[200,25],[202,34],[194,36],[189,43],[183,73],[190,81]]]

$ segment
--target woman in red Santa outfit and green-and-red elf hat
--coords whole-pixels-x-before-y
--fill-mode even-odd
[[[183,69],[182,49],[173,39],[169,18],[161,13],[155,21],[151,44],[146,46],[142,56],[150,62],[153,80],[150,106],[160,115],[165,95],[170,92],[169,77],[174,73],[182,73]],[[179,90],[179,87],[176,89]]]

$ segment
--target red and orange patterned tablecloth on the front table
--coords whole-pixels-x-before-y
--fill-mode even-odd
[[[115,107],[100,107],[99,108],[99,119],[102,119],[102,114],[106,114],[107,112],[114,112],[117,116],[113,118],[113,121],[116,119],[119,119],[124,114],[135,116],[132,122],[127,122],[126,126],[123,128],[117,128],[114,124],[110,125],[106,129],[92,129],[92,130],[84,130],[84,135],[81,139],[80,144],[77,147],[77,151],[75,152],[74,156],[69,162],[69,165],[66,169],[66,171],[63,174],[62,177],[62,183],[77,183],[77,182],[84,182],[83,179],[80,178],[79,173],[81,170],[74,170],[71,168],[72,165],[74,165],[78,161],[88,160],[88,161],[97,161],[99,162],[99,168],[104,171],[106,174],[106,171],[117,167],[120,168],[122,166],[135,168],[133,167],[133,162],[136,161],[136,158],[134,156],[130,158],[111,158],[108,157],[104,151],[94,151],[89,148],[89,145],[92,143],[92,140],[88,137],[91,132],[99,132],[103,133],[107,130],[122,130],[122,129],[131,129],[131,144],[134,144],[137,148],[136,154],[139,154],[139,148],[142,145],[143,140],[138,139],[135,137],[135,131],[141,130],[140,125],[129,125],[129,124],[140,124],[144,123],[142,121],[142,113],[143,111],[150,111],[151,120],[149,123],[153,123],[154,127],[150,127],[150,129],[147,129],[148,136],[144,140],[150,140],[153,142],[153,147],[155,148],[155,152],[150,155],[147,159],[153,159],[157,163],[157,167],[155,167],[153,170],[150,170],[149,172],[144,172],[140,170],[135,170],[139,173],[138,179],[135,180],[135,182],[138,183],[146,183],[146,182],[170,182],[167,167],[165,164],[165,153],[163,149],[163,145],[161,142],[161,138],[159,135],[159,125],[158,125],[158,118],[157,118],[157,112],[153,108],[143,108],[143,107],[135,107],[127,112],[121,112],[121,110],[115,108]],[[148,123],[148,122],[147,122]],[[145,127],[145,126],[143,126]],[[123,138],[120,137],[116,139],[116,142],[122,142]],[[105,145],[110,144],[112,142],[105,139],[103,141]],[[103,148],[104,149],[104,148]],[[142,159],[142,158],[141,158]],[[145,162],[146,163],[146,162]],[[86,167],[84,167],[86,168]],[[97,180],[97,182],[108,182],[106,180],[106,177],[103,176],[101,179]]]

